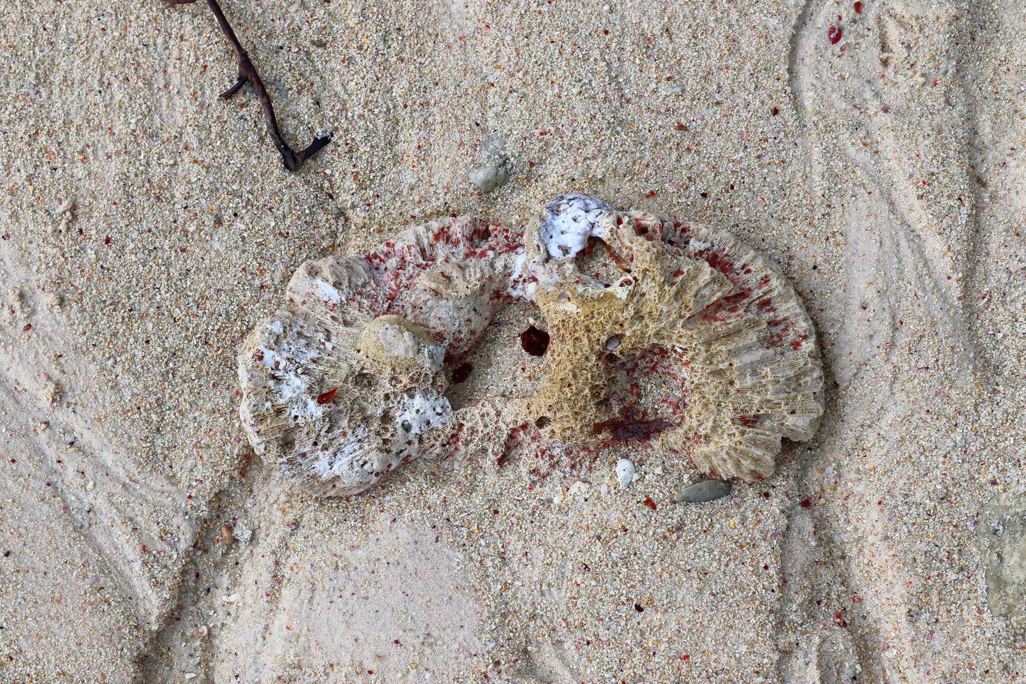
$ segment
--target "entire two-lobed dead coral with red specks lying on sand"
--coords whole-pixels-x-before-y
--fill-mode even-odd
[[[812,322],[728,234],[567,195],[520,244],[461,217],[305,264],[239,359],[256,453],[326,495],[443,451],[501,467],[511,440],[543,437],[556,449],[643,444],[751,482],[773,472],[781,438],[816,432]],[[545,355],[542,387],[453,410],[446,393],[469,374],[468,353],[501,307],[525,299],[545,319],[521,335]]]

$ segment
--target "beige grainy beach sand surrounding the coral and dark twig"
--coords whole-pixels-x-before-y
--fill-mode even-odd
[[[1023,484],[1026,12],[861,9],[227,0],[286,136],[334,135],[290,174],[202,4],[0,3],[0,681],[1021,679],[977,528]],[[813,443],[702,506],[658,454],[350,501],[249,458],[235,353],[297,266],[569,191],[780,265]]]

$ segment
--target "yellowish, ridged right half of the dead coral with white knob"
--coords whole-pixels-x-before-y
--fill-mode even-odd
[[[781,437],[815,434],[812,321],[727,233],[567,195],[524,241],[528,295],[552,336],[531,418],[552,441],[642,440],[751,482],[773,472]]]

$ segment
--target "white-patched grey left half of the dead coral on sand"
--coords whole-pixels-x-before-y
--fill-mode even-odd
[[[437,451],[477,410],[452,410],[445,366],[512,299],[518,256],[519,235],[461,217],[304,264],[239,357],[256,453],[311,493],[347,495]]]

